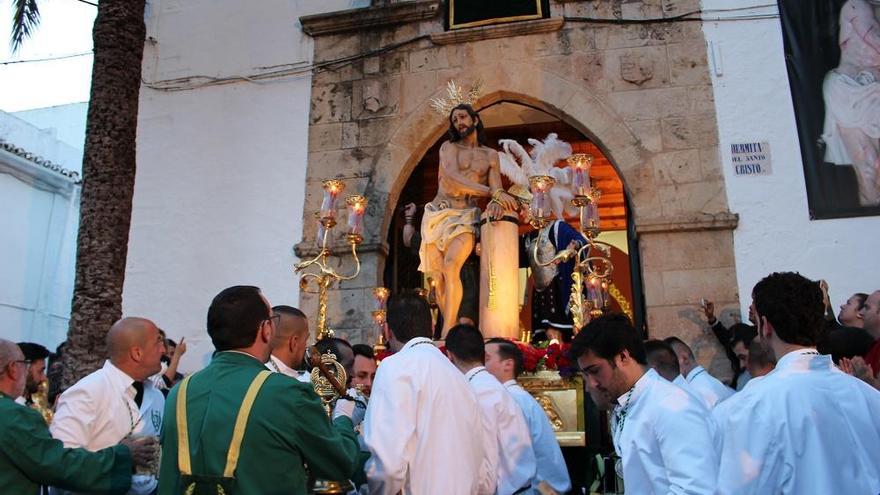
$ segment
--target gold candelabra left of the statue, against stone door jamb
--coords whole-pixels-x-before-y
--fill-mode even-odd
[[[327,294],[330,287],[341,280],[352,280],[361,272],[361,261],[357,255],[357,247],[363,242],[364,212],[367,208],[367,199],[359,194],[346,198],[348,207],[348,228],[345,240],[351,247],[351,256],[354,259],[355,269],[351,275],[343,275],[337,272],[328,263],[331,256],[331,247],[328,245],[330,234],[336,227],[336,206],[339,194],[345,190],[345,184],[338,179],[322,181],[324,199],[321,203],[321,211],[318,213],[318,254],[312,259],[301,261],[294,266],[294,273],[301,274],[299,281],[300,290],[318,294],[318,321],[316,324],[315,339],[321,340],[333,336],[333,330],[327,326]],[[315,267],[315,272],[306,272],[309,267]]]

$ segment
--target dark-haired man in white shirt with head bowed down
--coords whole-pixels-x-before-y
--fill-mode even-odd
[[[615,404],[611,432],[627,493],[714,493],[718,457],[709,410],[646,369],[644,346],[626,316],[592,320],[571,354],[588,390]]]

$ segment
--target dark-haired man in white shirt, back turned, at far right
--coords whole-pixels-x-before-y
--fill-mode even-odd
[[[722,408],[718,493],[880,493],[880,392],[816,351],[819,284],[773,273],[752,299],[758,336],[779,359]]]

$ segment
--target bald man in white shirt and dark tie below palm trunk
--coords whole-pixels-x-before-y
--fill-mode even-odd
[[[165,396],[147,380],[161,369],[159,329],[144,318],[123,318],[107,333],[107,352],[103,368],[58,399],[49,430],[65,447],[96,452],[129,436],[159,436]],[[157,484],[153,474],[135,474],[129,493],[152,493]]]

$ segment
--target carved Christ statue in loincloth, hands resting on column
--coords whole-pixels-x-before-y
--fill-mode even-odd
[[[476,242],[477,199],[493,198],[486,211],[495,218],[516,208],[516,200],[502,188],[497,152],[479,142],[479,115],[469,106],[459,106],[449,122],[454,139],[440,146],[439,187],[434,200],[425,205],[419,248],[419,270],[434,285],[443,314],[443,338],[458,321],[459,272]]]

